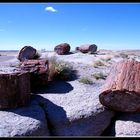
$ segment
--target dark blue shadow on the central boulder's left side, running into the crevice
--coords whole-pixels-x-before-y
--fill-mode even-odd
[[[49,99],[46,99],[40,95],[36,95],[33,98],[35,98],[39,102],[40,106],[43,108],[46,114],[48,128],[52,136],[56,135],[56,124],[68,125],[70,123],[66,115],[66,111],[63,109],[63,107],[54,104]]]

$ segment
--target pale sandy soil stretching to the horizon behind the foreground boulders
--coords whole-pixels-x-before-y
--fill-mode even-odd
[[[18,52],[0,52],[0,67],[1,69],[14,69],[18,64],[17,59]],[[78,71],[79,78],[87,77],[93,82],[98,83],[103,80],[96,80],[93,75],[99,72],[108,75],[111,66],[123,59],[135,59],[140,61],[140,50],[123,50],[123,51],[111,51],[111,50],[99,50],[97,54],[83,54],[81,52],[70,53],[68,55],[57,55],[55,52],[41,53],[41,58],[50,59],[56,57],[60,61],[70,63],[74,70]],[[97,61],[101,61],[104,66],[94,67]]]

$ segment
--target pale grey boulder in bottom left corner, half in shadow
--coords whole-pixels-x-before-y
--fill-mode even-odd
[[[0,111],[0,137],[48,135],[45,113],[36,101],[26,107]]]

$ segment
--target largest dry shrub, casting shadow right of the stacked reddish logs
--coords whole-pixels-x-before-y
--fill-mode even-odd
[[[55,56],[49,60],[49,80],[70,80],[73,78],[74,70],[68,62],[57,60]]]

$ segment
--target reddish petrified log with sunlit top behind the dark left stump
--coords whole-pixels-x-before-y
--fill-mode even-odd
[[[26,60],[21,64],[21,70],[31,74],[31,91],[44,87],[48,83],[48,60]]]

